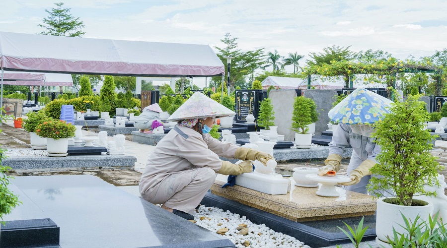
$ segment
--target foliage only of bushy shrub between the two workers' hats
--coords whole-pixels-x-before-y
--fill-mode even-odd
[[[306,134],[309,131],[308,124],[312,123],[311,104],[303,96],[295,97],[294,112],[292,114],[292,130]]]

